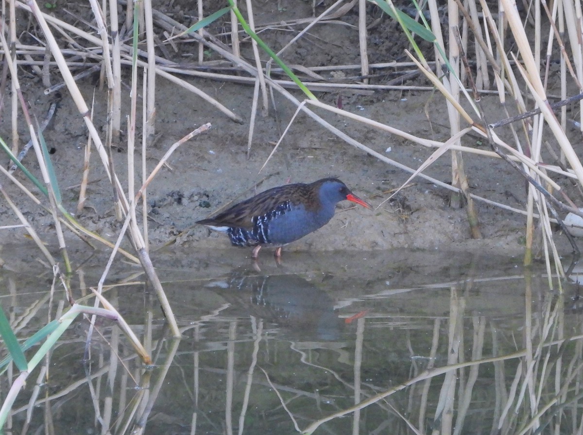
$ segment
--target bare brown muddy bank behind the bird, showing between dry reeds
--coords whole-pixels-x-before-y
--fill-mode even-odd
[[[291,13],[291,10],[282,12],[259,5],[258,8],[265,22],[281,18],[284,12],[286,16]],[[310,8],[294,10],[294,13],[298,15],[304,12],[311,13],[308,9]],[[78,12],[90,16],[89,10]],[[351,20],[355,17],[356,10],[347,13],[343,19],[346,23],[352,23]],[[386,27],[390,21],[383,23],[382,29],[375,31],[387,30],[383,26]],[[333,49],[309,51],[310,55],[305,57],[303,53],[307,48],[304,43],[300,43],[299,48],[286,60],[299,62],[304,59],[306,62],[309,61],[310,65],[356,62],[358,44],[337,47],[338,44],[333,43],[342,37],[347,38],[347,41],[353,40],[356,37],[354,33],[356,30],[352,27],[348,29],[350,30],[342,27],[339,30],[338,26],[331,24],[315,26],[312,33]],[[274,47],[282,43],[283,33],[273,31],[262,35],[268,44],[273,44]],[[375,33],[371,32],[371,38],[374,35]],[[371,61],[381,61],[396,55],[395,47],[401,45],[396,41],[389,42],[379,39],[371,45]],[[401,49],[402,47],[398,51],[401,52]],[[192,250],[227,248],[229,241],[223,234],[210,233],[200,226],[192,227],[194,222],[209,216],[227,202],[240,201],[276,185],[311,182],[335,176],[343,180],[357,195],[371,202],[375,209],[369,211],[341,204],[335,218],[328,225],[290,244],[286,247],[287,251],[459,248],[477,251],[498,250],[506,254],[522,252],[524,216],[476,202],[483,239],[471,240],[465,210],[449,206],[449,192],[422,178],[416,178],[412,185],[401,191],[393,200],[384,202],[392,190],[405,182],[409,174],[353,148],[303,114],[296,117],[277,152],[260,173],[259,170],[296,108],[276,94],[275,106],[270,107],[266,117],[259,115],[255,122],[250,157],[247,158],[252,86],[216,80],[186,79],[203,92],[220,100],[243,118],[244,122],[237,124],[193,94],[185,93],[174,83],[163,78],[157,79],[155,118],[157,136],[153,146],[147,150],[147,171],[153,169],[172,143],[192,129],[206,122],[210,122],[212,128],[206,134],[178,148],[171,156],[168,166],[164,167],[150,184],[146,201],[149,241],[153,247],[171,243]],[[51,80],[55,83],[61,80],[56,68],[51,69]],[[107,93],[99,87],[98,80],[97,76],[90,76],[80,80],[79,86],[86,101],[94,99],[93,122],[103,129],[105,135]],[[124,70],[123,113],[129,104],[129,87],[126,86],[129,80],[128,71]],[[375,80],[382,83],[383,79]],[[407,80],[406,84],[418,86],[427,85],[427,82],[420,76],[415,76]],[[27,101],[31,104],[31,113],[42,119],[54,96],[45,96],[43,83],[33,75],[26,75],[21,85]],[[141,89],[141,84],[138,85],[138,89]],[[384,122],[410,134],[437,141],[449,138],[445,101],[436,93],[422,90],[351,92],[342,89],[335,93],[315,93],[321,101],[336,105],[341,100],[346,111]],[[295,94],[301,100],[300,93]],[[490,113],[490,118],[492,120],[500,118],[497,97],[483,96],[482,100],[485,110]],[[138,113],[141,113],[141,104],[140,96]],[[433,152],[433,149],[340,118],[338,115],[319,114],[357,141],[413,169],[419,167]],[[10,131],[9,109],[5,107],[5,116],[0,120],[0,135],[9,138]],[[19,134],[23,142],[28,139],[27,128],[23,122],[19,126]],[[500,135],[504,137],[504,132],[500,131]],[[510,134],[508,135],[510,137]],[[58,174],[59,186],[64,192],[64,205],[73,212],[79,195],[87,131],[66,90],[62,91],[57,114],[44,132],[44,136],[52,152],[51,159]],[[121,139],[113,150],[113,162],[122,185],[125,185],[128,159],[124,134]],[[462,140],[473,142],[464,143],[465,145],[486,148],[486,144],[472,136],[464,136]],[[141,159],[140,152],[137,152],[135,157],[136,160]],[[29,153],[23,163],[41,178],[34,153]],[[493,201],[524,208],[526,199],[524,181],[504,162],[466,155],[464,164],[470,180],[470,191]],[[450,167],[451,159],[446,154],[424,173],[448,183],[451,180]],[[137,185],[141,183],[140,172],[137,168]],[[21,173],[17,173],[17,178],[27,186],[30,185]],[[94,150],[89,180],[85,209],[76,213],[76,217],[88,229],[109,240],[115,240],[121,224],[114,216],[113,190]],[[49,213],[31,202],[12,183],[5,180],[3,184],[24,216],[43,236],[45,243],[56,244],[57,239]],[[34,187],[30,188],[38,194]],[[382,205],[377,208],[380,204]],[[5,225],[19,224],[19,220],[5,204],[0,206],[0,216]],[[67,233],[67,237],[75,238],[70,232]],[[0,242],[14,240],[28,243],[22,228],[0,231]],[[559,237],[559,242],[564,244],[563,238]]]

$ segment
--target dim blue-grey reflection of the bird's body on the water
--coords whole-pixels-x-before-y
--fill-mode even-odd
[[[238,315],[251,314],[275,322],[292,336],[300,332],[301,341],[340,337],[343,322],[334,312],[334,301],[301,276],[238,276],[207,286],[229,290],[231,293],[221,292],[221,296],[237,307]]]

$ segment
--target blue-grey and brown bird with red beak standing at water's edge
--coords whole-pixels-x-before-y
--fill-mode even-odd
[[[254,246],[252,258],[267,244],[276,245],[275,257],[280,257],[283,245],[324,226],[344,200],[371,208],[338,178],[323,178],[274,187],[196,223],[226,231],[235,246]]]

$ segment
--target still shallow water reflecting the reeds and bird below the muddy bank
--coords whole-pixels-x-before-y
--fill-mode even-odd
[[[129,284],[104,295],[154,366],[103,319],[83,364],[89,322],[78,320],[48,379],[37,368],[20,392],[15,433],[571,434],[582,425],[577,287],[563,283],[561,296],[554,279],[550,291],[542,266],[396,251],[285,252],[282,265],[266,251],[252,265],[247,254],[152,255],[180,340],[168,338],[140,269],[116,262],[106,283]],[[72,279],[81,302],[102,260]],[[33,270],[0,272],[19,338],[62,299],[57,287],[51,301],[52,276]],[[3,395],[8,387],[5,374]]]

